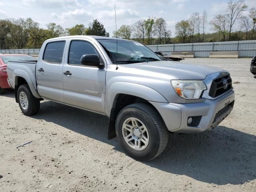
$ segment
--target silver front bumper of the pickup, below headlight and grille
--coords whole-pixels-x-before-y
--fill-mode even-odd
[[[232,90],[216,100],[206,99],[199,103],[150,103],[158,110],[169,131],[199,133],[209,131],[220,124],[232,111],[234,99]],[[188,118],[191,116],[202,116],[198,126],[188,125]]]

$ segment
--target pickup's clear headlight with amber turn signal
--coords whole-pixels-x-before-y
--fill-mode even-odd
[[[171,80],[176,93],[185,99],[199,99],[206,85],[200,80]]]

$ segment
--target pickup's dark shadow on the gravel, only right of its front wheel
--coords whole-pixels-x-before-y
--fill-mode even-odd
[[[256,179],[256,136],[225,126],[172,135],[163,154],[146,164],[206,183],[243,184]]]

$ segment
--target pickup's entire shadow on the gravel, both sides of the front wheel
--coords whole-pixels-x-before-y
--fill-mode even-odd
[[[54,102],[42,102],[40,112],[33,118],[54,122],[124,152],[116,138],[107,139],[108,118],[105,116]],[[256,136],[225,126],[202,134],[170,134],[163,154],[141,163],[201,182],[242,184],[256,179]]]

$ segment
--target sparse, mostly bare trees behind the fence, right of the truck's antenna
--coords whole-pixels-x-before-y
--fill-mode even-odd
[[[249,15],[243,12],[248,10],[244,0],[229,0],[226,13],[215,15],[208,22],[206,10],[200,14],[194,12],[188,20],[181,20],[175,25],[175,37],[167,29],[164,18],[150,17],[139,20],[135,24],[122,25],[113,32],[113,37],[133,39],[144,44],[168,44],[168,43],[193,43],[193,42],[217,42],[234,40],[256,39],[256,8],[249,9]],[[213,33],[206,33],[206,27],[210,25]],[[238,29],[234,31],[235,26]]]

